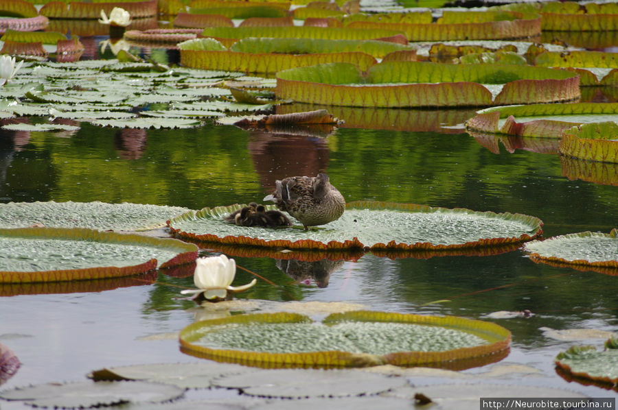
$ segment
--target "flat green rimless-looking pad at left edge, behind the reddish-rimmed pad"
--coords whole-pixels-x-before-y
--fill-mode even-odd
[[[187,212],[180,206],[107,204],[105,202],[9,202],[0,204],[1,228],[43,224],[55,228],[150,230]]]

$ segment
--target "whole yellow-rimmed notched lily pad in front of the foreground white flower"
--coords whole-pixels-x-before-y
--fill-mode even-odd
[[[180,333],[188,354],[258,367],[448,367],[506,350],[510,339],[479,320],[369,311],[333,313],[321,324],[294,313],[237,315]]]

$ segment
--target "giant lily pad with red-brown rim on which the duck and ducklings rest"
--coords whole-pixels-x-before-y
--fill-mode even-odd
[[[168,225],[178,237],[204,242],[339,252],[500,247],[529,241],[542,233],[542,221],[527,215],[389,202],[349,203],[342,217],[312,230],[236,226],[222,219],[240,208],[237,204],[189,211]]]

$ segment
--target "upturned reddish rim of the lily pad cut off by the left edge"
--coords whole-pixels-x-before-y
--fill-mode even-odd
[[[186,243],[176,239],[146,237],[139,234],[102,232],[88,228],[0,228],[0,236],[22,237],[26,239],[71,239],[103,243],[125,243],[154,248],[172,248],[179,252],[169,261],[161,263],[161,268],[190,263],[198,256],[198,248],[192,243]],[[56,269],[36,272],[2,271],[0,272],[0,283],[62,282],[65,280],[119,278],[122,276],[144,274],[155,269],[157,269],[156,258],[152,258],[138,265],[128,265],[124,267],[88,267],[83,269]]]

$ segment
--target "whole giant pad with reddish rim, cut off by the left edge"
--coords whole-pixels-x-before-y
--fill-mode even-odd
[[[0,229],[0,282],[55,282],[142,274],[190,263],[197,247],[174,239],[85,228]]]

